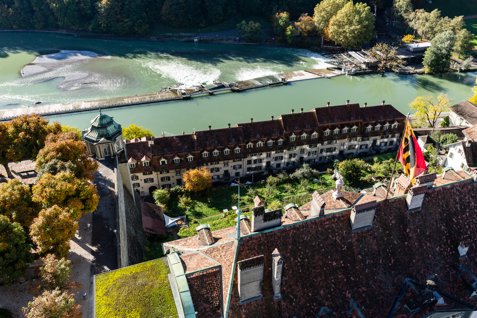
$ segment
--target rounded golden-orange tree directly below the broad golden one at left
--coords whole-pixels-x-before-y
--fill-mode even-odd
[[[68,208],[53,205],[43,209],[33,220],[30,235],[38,247],[38,252],[53,253],[58,257],[68,257],[70,239],[78,229],[78,222],[70,216]]]

